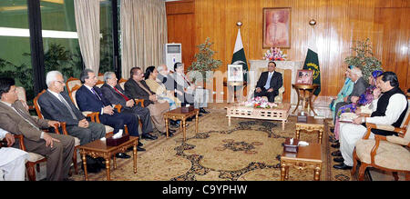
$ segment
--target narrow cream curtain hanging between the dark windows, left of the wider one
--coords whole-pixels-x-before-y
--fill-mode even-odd
[[[99,0],[74,0],[78,44],[86,68],[98,75]]]

